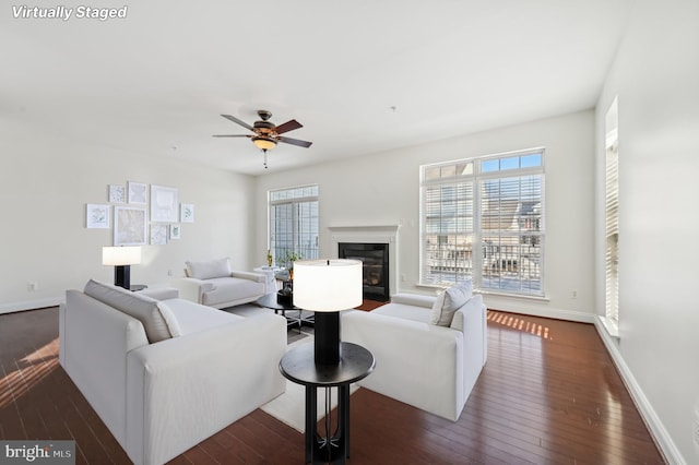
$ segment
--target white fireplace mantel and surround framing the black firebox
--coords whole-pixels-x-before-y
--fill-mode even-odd
[[[388,243],[389,245],[389,295],[398,293],[398,231],[400,225],[383,226],[329,226],[332,258],[339,254],[339,245],[347,243]]]

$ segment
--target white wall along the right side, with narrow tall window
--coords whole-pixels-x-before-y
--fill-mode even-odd
[[[612,351],[673,463],[699,463],[699,2],[637,2],[596,110],[596,306],[604,119],[619,105],[619,339]]]

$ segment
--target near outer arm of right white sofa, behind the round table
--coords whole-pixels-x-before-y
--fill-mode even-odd
[[[376,359],[360,385],[455,420],[464,405],[463,333],[401,318],[351,311],[342,341],[366,347]]]

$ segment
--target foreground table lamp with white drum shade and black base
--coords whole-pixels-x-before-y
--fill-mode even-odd
[[[362,305],[359,260],[299,260],[294,263],[294,306],[316,312],[317,365],[339,365],[340,310]]]

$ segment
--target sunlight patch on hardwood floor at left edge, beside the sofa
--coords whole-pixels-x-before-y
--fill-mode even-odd
[[[26,394],[58,366],[58,337],[17,361],[15,370],[0,373],[0,408]]]

